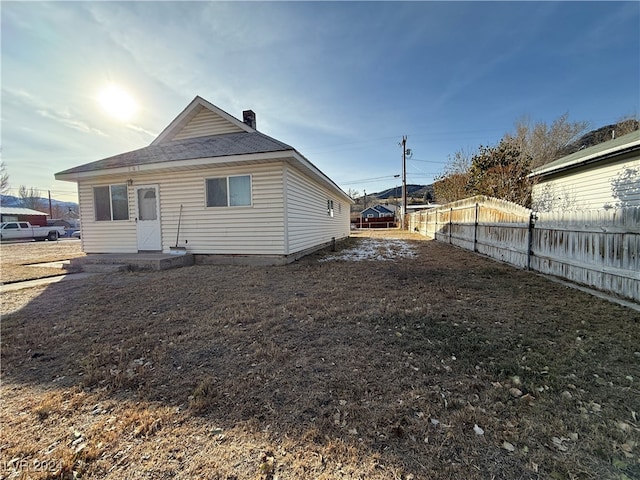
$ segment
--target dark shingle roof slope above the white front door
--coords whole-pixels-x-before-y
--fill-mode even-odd
[[[92,172],[110,168],[133,167],[196,158],[227,157],[287,150],[293,150],[293,147],[260,132],[227,133],[149,145],[138,150],[70,168],[59,172],[59,174]]]

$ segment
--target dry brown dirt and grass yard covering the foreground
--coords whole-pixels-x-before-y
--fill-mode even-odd
[[[0,478],[640,478],[640,314],[398,233],[3,293]]]

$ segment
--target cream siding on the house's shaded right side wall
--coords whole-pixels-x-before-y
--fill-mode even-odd
[[[289,254],[349,236],[349,204],[293,167],[285,171]],[[327,215],[333,200],[334,216]]]

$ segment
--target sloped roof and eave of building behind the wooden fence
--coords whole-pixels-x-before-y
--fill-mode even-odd
[[[626,135],[621,135],[614,140],[599,143],[598,145],[585,148],[584,150],[578,150],[571,155],[567,155],[559,158],[558,160],[547,163],[546,165],[534,169],[529,174],[529,177],[546,176],[553,173],[559,173],[590,163],[608,160],[612,157],[617,157],[633,151],[640,151],[640,130],[636,130]]]

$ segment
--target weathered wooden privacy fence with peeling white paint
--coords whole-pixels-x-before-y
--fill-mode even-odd
[[[640,303],[640,208],[533,212],[478,196],[414,212],[410,231]]]

